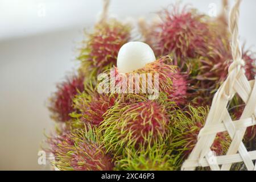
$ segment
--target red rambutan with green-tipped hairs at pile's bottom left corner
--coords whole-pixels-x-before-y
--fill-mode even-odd
[[[55,156],[53,165],[64,171],[111,171],[112,158],[97,141],[93,131],[73,130],[48,138]]]

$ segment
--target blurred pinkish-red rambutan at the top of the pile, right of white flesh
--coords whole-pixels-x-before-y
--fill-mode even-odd
[[[195,57],[207,48],[208,24],[204,15],[179,6],[160,13],[162,22],[153,32],[152,42],[156,55],[175,53],[177,57]]]

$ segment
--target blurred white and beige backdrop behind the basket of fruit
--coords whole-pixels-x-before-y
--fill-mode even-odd
[[[172,2],[113,0],[110,14],[150,19]],[[184,3],[204,13],[210,3],[221,8],[221,0]],[[240,35],[247,47],[256,43],[255,7],[255,0],[241,5]],[[49,169],[37,161],[43,130],[54,126],[47,98],[77,66],[83,30],[101,9],[101,0],[0,0],[0,169]]]

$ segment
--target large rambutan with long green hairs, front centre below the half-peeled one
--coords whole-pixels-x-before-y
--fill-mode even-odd
[[[146,98],[118,102],[109,109],[99,129],[107,151],[118,156],[123,148],[144,147],[170,136],[168,105]]]

